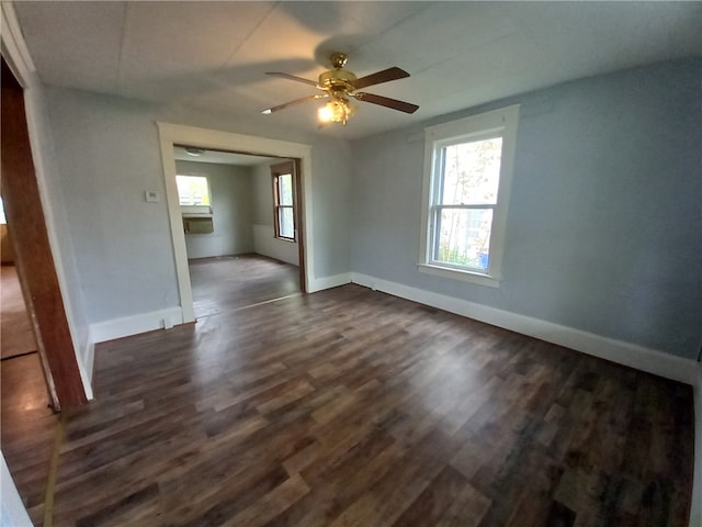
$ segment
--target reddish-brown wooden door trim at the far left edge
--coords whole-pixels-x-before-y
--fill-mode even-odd
[[[87,402],[34,171],[24,90],[2,59],[2,195],[54,410]]]

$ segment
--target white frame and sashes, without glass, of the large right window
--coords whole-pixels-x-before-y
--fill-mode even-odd
[[[501,108],[478,115],[442,123],[424,128],[424,179],[422,186],[421,238],[418,268],[421,272],[444,278],[465,280],[473,283],[499,288],[502,279],[502,256],[505,254],[505,231],[509,205],[512,172],[514,169],[514,145],[517,124],[519,122],[519,104]],[[490,249],[488,269],[480,272],[462,266],[451,266],[433,260],[434,247],[434,210],[439,204],[439,181],[441,175],[439,152],[442,148],[480,141],[487,137],[502,137],[500,159],[500,180],[497,192],[497,204],[494,208],[490,229]]]

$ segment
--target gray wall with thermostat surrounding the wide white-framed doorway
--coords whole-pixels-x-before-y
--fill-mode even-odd
[[[340,139],[251,121],[47,87],[56,146],[49,200],[63,210],[89,324],[180,304],[156,122],[313,146],[317,278],[349,272],[346,240],[350,150]],[[269,123],[263,125],[262,123]],[[147,203],[146,190],[162,199]]]

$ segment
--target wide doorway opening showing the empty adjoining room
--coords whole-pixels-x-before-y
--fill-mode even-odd
[[[299,161],[189,145],[173,158],[194,316],[299,294]]]

